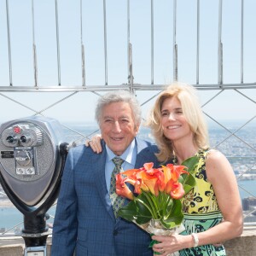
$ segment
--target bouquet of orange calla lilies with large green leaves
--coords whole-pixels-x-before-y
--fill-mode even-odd
[[[119,216],[154,234],[147,229],[152,220],[157,220],[163,229],[178,227],[183,221],[181,200],[195,187],[195,177],[191,174],[198,160],[193,156],[181,166],[168,164],[160,168],[145,163],[142,168],[119,173],[116,193],[131,200],[119,209]],[[126,183],[133,185],[134,193]]]

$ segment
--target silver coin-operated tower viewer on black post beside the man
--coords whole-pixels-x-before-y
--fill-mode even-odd
[[[68,144],[55,119],[29,117],[0,126],[0,181],[9,200],[24,215],[19,234],[24,255],[46,256],[47,211],[55,202]]]

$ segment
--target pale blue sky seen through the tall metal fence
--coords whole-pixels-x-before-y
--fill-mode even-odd
[[[12,55],[12,82],[15,86],[33,86],[32,55],[32,1],[9,0],[9,23]],[[57,50],[55,36],[55,1],[34,2],[34,40],[37,47],[38,85],[58,84]],[[81,37],[85,48],[86,84],[105,84],[103,1],[82,1],[82,34],[80,1],[59,0],[59,36],[61,85],[82,84]],[[108,84],[127,83],[127,1],[106,0]],[[154,0],[154,84],[168,84],[173,80],[173,1]],[[178,79],[196,83],[196,0],[177,1]],[[200,84],[218,83],[218,8],[217,0],[201,0],[200,27]],[[244,83],[255,82],[256,68],[256,2],[244,1]],[[150,0],[130,0],[130,41],[134,82],[151,83]],[[0,0],[0,86],[8,86],[9,50],[6,26],[6,1]],[[241,81],[241,0],[223,1],[222,42],[224,45],[224,84]],[[241,90],[256,101],[256,90]],[[156,91],[137,91],[140,102],[154,96]],[[199,91],[204,104],[218,90]],[[42,110],[71,93],[7,93],[4,96],[34,110]],[[31,115],[32,110],[20,107],[1,96],[0,120]],[[78,93],[44,114],[61,120],[91,121],[97,96]],[[216,119],[249,119],[256,113],[255,103],[247,101],[233,90],[218,96],[218,104],[207,105],[204,110]],[[152,102],[143,106],[146,114]],[[239,102],[239,104],[237,104]],[[213,106],[213,107],[212,107]],[[64,111],[63,111],[64,109]]]

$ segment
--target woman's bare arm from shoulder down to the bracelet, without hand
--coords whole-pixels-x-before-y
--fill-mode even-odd
[[[207,157],[206,170],[224,221],[211,230],[203,232],[204,234],[200,234],[201,243],[216,243],[241,236],[243,229],[241,198],[230,162],[224,154],[212,150]]]

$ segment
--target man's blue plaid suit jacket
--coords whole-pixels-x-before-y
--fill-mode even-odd
[[[159,163],[155,145],[136,138],[135,168]],[[136,224],[114,218],[105,180],[106,150],[94,154],[84,145],[72,148],[61,180],[55,212],[52,256],[152,256],[150,236]]]

